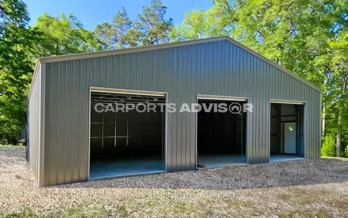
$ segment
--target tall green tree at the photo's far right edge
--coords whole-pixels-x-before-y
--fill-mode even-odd
[[[318,52],[314,60],[318,72],[323,72],[323,136],[336,135],[336,156],[347,147],[347,79],[348,79],[348,5],[347,1],[321,2],[314,17]],[[343,145],[345,144],[345,145]],[[344,150],[344,149],[343,149]]]

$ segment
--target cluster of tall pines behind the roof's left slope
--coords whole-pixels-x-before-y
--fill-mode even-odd
[[[102,49],[117,49],[169,42],[173,19],[165,19],[167,7],[161,0],[152,0],[143,6],[132,21],[124,7],[117,11],[111,23],[98,24],[94,30]]]

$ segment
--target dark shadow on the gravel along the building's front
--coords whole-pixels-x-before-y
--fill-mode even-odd
[[[233,190],[347,181],[348,160],[320,158],[135,176],[51,187]]]

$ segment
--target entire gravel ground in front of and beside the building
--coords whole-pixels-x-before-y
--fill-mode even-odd
[[[0,217],[348,217],[348,160],[321,158],[38,188],[0,146]]]

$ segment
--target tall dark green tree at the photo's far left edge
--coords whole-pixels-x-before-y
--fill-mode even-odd
[[[26,123],[26,97],[33,62],[28,57],[35,31],[21,0],[0,1],[0,140],[16,144]]]

